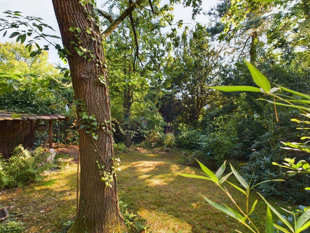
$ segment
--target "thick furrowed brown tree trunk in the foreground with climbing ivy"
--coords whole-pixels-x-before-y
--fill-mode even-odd
[[[111,182],[112,187],[107,187],[105,182],[100,180],[103,176],[100,171],[111,173],[114,164],[112,136],[108,133],[111,125],[109,122],[104,123],[110,120],[111,111],[100,30],[96,21],[91,21],[89,18],[96,18],[90,4],[83,7],[78,0],[52,0],[52,2],[63,44],[72,54],[68,56],[68,62],[75,98],[85,101],[86,110],[90,116],[95,115],[98,125],[103,123],[103,127],[95,131],[98,140],[86,133],[85,128],[79,130],[81,190],[76,221],[70,232],[111,232],[112,229],[118,232],[125,229],[125,226],[118,207],[115,173]],[[69,30],[70,27],[77,27],[81,31],[72,32]],[[92,33],[87,34],[86,29],[90,28]],[[78,41],[75,35],[80,38],[78,46],[71,43]],[[89,62],[88,58],[79,56],[74,48],[79,46],[91,51],[98,61]],[[105,79],[106,85],[100,82],[100,77]],[[78,109],[78,112],[82,111]],[[104,165],[104,168],[100,170],[96,161],[100,167]]]

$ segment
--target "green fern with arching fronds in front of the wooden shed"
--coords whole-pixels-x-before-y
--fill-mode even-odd
[[[43,179],[42,173],[55,166],[53,163],[46,163],[49,154],[43,153],[38,147],[32,153],[24,149],[22,145],[17,146],[12,156],[5,160],[0,157],[0,186],[22,187],[31,182]]]

